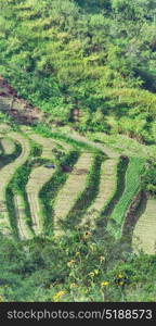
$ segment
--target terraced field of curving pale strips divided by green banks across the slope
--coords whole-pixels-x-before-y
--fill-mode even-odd
[[[46,137],[26,126],[13,131],[6,124],[0,130],[0,230],[4,236],[30,240],[46,236],[46,226],[57,236],[75,227],[96,231],[99,218],[107,217],[105,233],[122,238],[142,187],[145,159],[120,156],[76,134],[66,137],[55,131]],[[76,156],[70,162],[73,152]],[[123,159],[128,166],[121,171]],[[150,198],[136,222],[134,251],[155,253],[155,206],[156,200]]]

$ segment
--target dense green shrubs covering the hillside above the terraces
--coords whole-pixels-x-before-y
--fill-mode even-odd
[[[155,141],[155,0],[1,0],[0,11],[1,74],[47,122]]]

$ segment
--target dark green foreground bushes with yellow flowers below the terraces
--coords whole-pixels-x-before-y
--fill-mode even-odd
[[[1,301],[155,301],[156,256],[90,231],[0,241]]]

